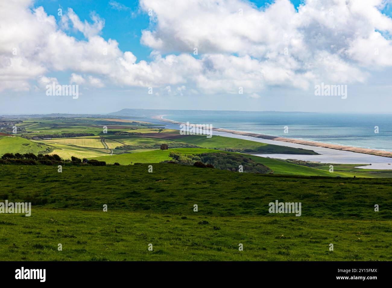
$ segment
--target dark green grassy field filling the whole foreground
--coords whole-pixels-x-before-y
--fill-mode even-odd
[[[0,260],[392,260],[389,179],[152,165],[0,166],[0,202],[33,205],[0,214]]]

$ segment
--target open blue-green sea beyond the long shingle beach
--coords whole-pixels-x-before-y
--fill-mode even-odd
[[[166,115],[164,118],[271,136],[392,151],[392,114],[275,112],[243,115]]]

